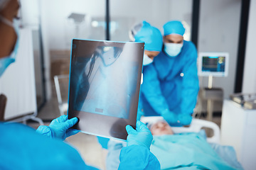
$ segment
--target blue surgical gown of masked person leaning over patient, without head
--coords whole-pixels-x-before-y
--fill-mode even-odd
[[[144,115],[161,115],[166,109],[192,114],[198,95],[197,51],[192,42],[183,41],[181,52],[169,57],[165,52],[143,68],[140,104]]]

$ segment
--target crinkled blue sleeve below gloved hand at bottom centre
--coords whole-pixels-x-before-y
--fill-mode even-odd
[[[139,145],[123,147],[120,153],[119,170],[160,169],[160,163],[149,149]]]

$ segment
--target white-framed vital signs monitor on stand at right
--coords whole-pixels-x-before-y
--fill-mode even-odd
[[[228,52],[199,52],[198,75],[228,77]]]

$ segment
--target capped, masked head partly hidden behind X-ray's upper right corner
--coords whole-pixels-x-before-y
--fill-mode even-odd
[[[160,30],[143,21],[132,28],[131,34],[135,42],[145,43],[143,64],[148,65],[153,62],[163,45]]]

